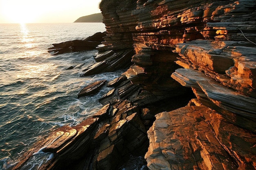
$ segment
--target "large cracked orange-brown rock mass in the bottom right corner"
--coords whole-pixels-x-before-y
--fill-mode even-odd
[[[148,130],[150,146],[145,157],[150,170],[255,168],[255,150],[248,148],[255,147],[255,134],[230,125],[203,105],[159,113],[156,119]]]

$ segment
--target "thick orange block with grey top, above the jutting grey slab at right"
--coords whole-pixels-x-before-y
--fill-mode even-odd
[[[255,48],[246,42],[196,40],[178,44],[177,64],[204,71],[210,77],[245,95],[256,97]]]

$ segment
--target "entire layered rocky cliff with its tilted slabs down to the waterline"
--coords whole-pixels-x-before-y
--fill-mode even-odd
[[[100,8],[107,36],[81,76],[129,68],[94,117],[57,129],[13,169],[39,151],[54,153],[49,170],[127,170],[134,156],[150,170],[256,169],[256,0]]]

